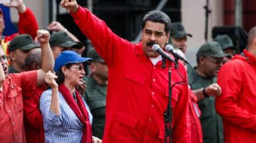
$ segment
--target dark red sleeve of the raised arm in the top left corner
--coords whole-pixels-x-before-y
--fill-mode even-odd
[[[26,8],[25,13],[20,13],[20,19],[18,21],[18,32],[19,34],[29,34],[33,39],[36,38],[38,24],[36,17],[32,10]]]

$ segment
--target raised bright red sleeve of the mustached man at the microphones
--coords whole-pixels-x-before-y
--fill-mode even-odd
[[[104,21],[89,10],[79,6],[79,10],[76,13],[71,12],[71,16],[108,66],[122,63],[127,50],[133,50],[130,48],[134,47],[133,43],[115,35]]]

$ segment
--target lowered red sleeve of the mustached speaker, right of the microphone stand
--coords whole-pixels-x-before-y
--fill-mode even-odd
[[[185,69],[184,69],[185,71]],[[184,72],[185,79],[187,73]],[[180,86],[179,98],[173,107],[173,135],[172,142],[191,142],[191,123],[189,116],[189,97],[187,85]],[[173,88],[174,90],[175,88]],[[178,93],[173,91],[172,93]],[[173,95],[174,96],[174,95]],[[175,100],[175,99],[174,99]]]

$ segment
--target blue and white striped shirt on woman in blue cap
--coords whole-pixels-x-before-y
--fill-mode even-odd
[[[59,92],[60,116],[50,110],[52,89],[42,93],[40,110],[44,120],[45,142],[82,142],[83,123],[69,107],[63,95]],[[86,109],[92,123],[92,114],[86,104]]]

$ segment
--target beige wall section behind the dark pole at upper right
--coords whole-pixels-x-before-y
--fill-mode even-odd
[[[183,23],[187,33],[193,35],[188,37],[187,59],[191,61],[192,65],[196,65],[196,52],[199,47],[205,43],[205,6],[206,0],[182,0],[181,22]],[[209,8],[212,13],[208,18],[208,41],[211,41],[211,30],[214,26],[223,25],[223,1],[209,0]]]

